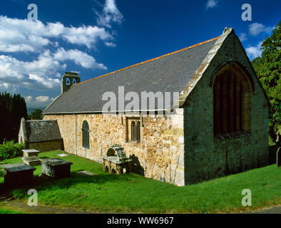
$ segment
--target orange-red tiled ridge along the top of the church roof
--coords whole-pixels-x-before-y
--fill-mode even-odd
[[[156,58],[151,58],[151,59],[149,59],[149,60],[147,60],[147,61],[143,61],[143,62],[141,62],[141,63],[136,63],[136,64],[133,64],[133,65],[131,65],[131,66],[127,66],[127,67],[125,67],[125,68],[121,68],[120,70],[117,70],[117,71],[112,71],[112,72],[110,72],[110,73],[103,74],[103,75],[98,76],[98,77],[96,77],[96,78],[88,79],[88,80],[83,81],[83,82],[81,82],[81,83],[77,83],[77,84],[75,84],[75,85],[73,85],[73,86],[77,86],[77,85],[79,85],[79,84],[86,83],[86,82],[88,82],[88,81],[92,81],[92,80],[97,79],[97,78],[101,78],[101,77],[104,77],[104,76],[108,76],[108,75],[110,75],[110,74],[112,74],[112,73],[117,73],[117,72],[120,72],[120,71],[124,71],[124,70],[126,70],[126,69],[128,69],[128,68],[132,68],[132,67],[134,67],[134,66],[140,66],[140,65],[142,65],[142,64],[144,64],[144,63],[148,63],[148,62],[151,62],[151,61],[155,61],[155,60],[157,60],[157,59],[159,59],[159,58],[163,58],[163,57],[165,57],[165,56],[171,56],[171,55],[173,55],[173,54],[175,54],[175,53],[179,53],[179,52],[188,50],[188,49],[190,49],[190,48],[195,48],[196,46],[200,46],[200,45],[202,45],[202,44],[204,44],[204,43],[210,43],[210,42],[212,42],[212,41],[217,40],[218,38],[220,38],[220,36],[217,36],[217,37],[215,37],[215,38],[210,38],[208,41],[203,41],[203,42],[200,42],[200,43],[196,43],[196,44],[194,44],[194,45],[192,45],[192,46],[188,46],[187,48],[182,48],[182,49],[180,49],[180,50],[178,50],[178,51],[173,51],[173,52],[167,53],[167,54],[165,54],[165,55],[163,55],[163,56],[159,56],[159,57],[156,57]]]

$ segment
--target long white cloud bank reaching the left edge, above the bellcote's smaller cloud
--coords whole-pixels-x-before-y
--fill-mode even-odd
[[[113,36],[97,26],[66,27],[60,22],[43,24],[28,19],[0,16],[0,51],[38,52],[51,44],[49,38],[63,38],[66,42],[93,48],[97,41],[108,41]],[[57,46],[58,43],[52,43]]]

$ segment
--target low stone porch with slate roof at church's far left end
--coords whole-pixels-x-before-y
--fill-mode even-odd
[[[24,120],[21,118],[19,142],[24,142],[26,149],[63,150],[63,139],[56,120]]]

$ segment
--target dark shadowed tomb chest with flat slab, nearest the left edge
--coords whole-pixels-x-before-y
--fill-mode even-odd
[[[1,167],[6,171],[4,176],[4,185],[6,187],[17,187],[31,183],[34,177],[34,170],[36,170],[35,167],[24,163],[1,165]]]

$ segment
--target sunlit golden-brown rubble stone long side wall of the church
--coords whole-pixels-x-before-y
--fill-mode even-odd
[[[45,115],[57,120],[64,150],[102,162],[110,145],[121,144],[133,170],[155,180],[184,185],[183,109],[175,115]],[[141,142],[127,142],[126,118],[141,120]],[[82,147],[82,123],[88,121],[90,149]]]

